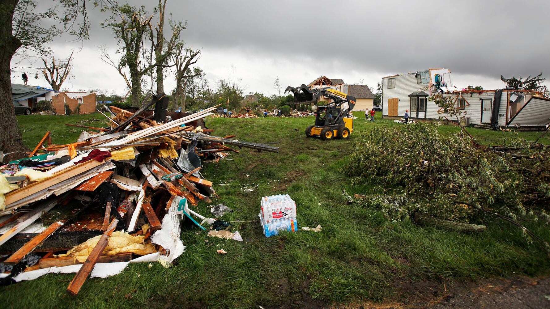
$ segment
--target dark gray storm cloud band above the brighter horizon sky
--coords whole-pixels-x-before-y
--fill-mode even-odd
[[[179,6],[179,5],[178,5]],[[547,1],[186,1],[188,40],[402,73],[550,73]]]

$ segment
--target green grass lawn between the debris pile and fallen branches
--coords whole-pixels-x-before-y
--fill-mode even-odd
[[[340,172],[353,142],[375,126],[401,125],[379,115],[370,123],[361,112],[355,114],[359,118],[350,139],[328,142],[306,139],[304,130],[313,117],[207,118],[208,128],[215,129],[217,136],[280,142],[280,153],[243,149],[231,153],[231,160],[204,165],[204,175],[220,197],[214,203],[234,209],[223,219],[234,222],[233,230],[240,231],[243,242],[208,238],[184,223],[186,251],[171,268],[131,264],[116,276],[88,279],[76,299],[65,295],[74,274],[45,275],[0,288],[0,303],[19,308],[301,308],[407,297],[399,284],[404,278],[476,280],[548,272],[546,253],[527,245],[521,231],[509,224],[494,222],[480,235],[459,234],[408,221],[388,222],[374,209],[346,203],[344,190],[350,195],[383,191],[376,183],[352,185]],[[47,130],[52,131],[54,143],[65,144],[81,130],[64,123],[87,120],[85,125],[98,126],[102,117],[30,115],[18,120],[26,145],[34,148]],[[459,128],[441,126],[439,130],[452,134]],[[515,134],[469,131],[490,145]],[[519,135],[536,140],[541,133]],[[548,137],[540,141],[550,144]],[[251,192],[244,190],[251,187]],[[322,231],[265,238],[257,221],[260,198],[273,194],[289,194],[296,201],[299,227],[321,224]],[[209,213],[205,203],[198,208],[202,214]],[[548,231],[544,235],[550,240]],[[228,253],[219,255],[217,249]]]

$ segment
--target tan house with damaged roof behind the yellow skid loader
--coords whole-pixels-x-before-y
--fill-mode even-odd
[[[372,104],[375,98],[367,85],[345,84],[342,79],[328,79],[326,76],[321,76],[320,78],[313,80],[307,86],[312,89],[323,89],[328,87],[344,92],[346,95],[354,96],[357,99],[355,101],[355,107],[353,108],[354,111],[366,111],[367,109],[372,109]],[[332,100],[327,97],[320,97],[318,101],[331,102]]]

